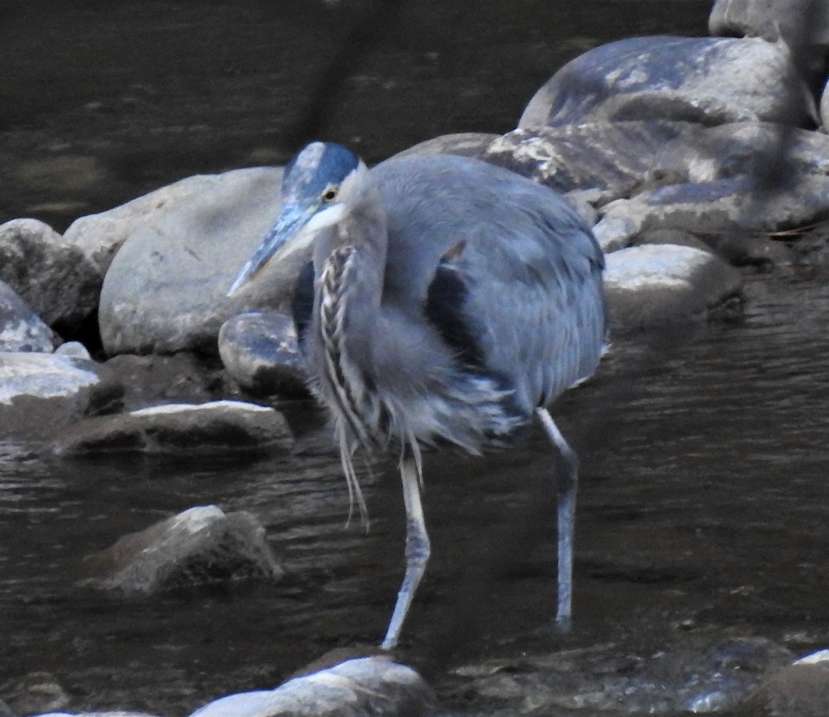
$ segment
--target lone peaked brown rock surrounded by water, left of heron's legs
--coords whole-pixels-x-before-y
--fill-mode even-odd
[[[122,594],[158,594],[284,575],[264,527],[250,512],[215,505],[190,508],[142,532],[119,538],[85,559],[82,585]]]

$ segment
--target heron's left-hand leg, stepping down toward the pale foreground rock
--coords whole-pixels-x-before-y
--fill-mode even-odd
[[[381,643],[384,650],[390,650],[397,645],[400,629],[409,612],[409,606],[414,598],[414,592],[426,571],[429,561],[429,535],[426,533],[426,523],[423,517],[423,506],[420,503],[420,478],[414,456],[408,451],[400,461],[400,479],[403,481],[403,499],[406,507],[406,574],[400,592],[397,594],[395,611],[391,614],[389,629]]]

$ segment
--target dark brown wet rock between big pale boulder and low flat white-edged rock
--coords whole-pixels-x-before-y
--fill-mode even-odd
[[[124,385],[124,407],[128,411],[158,403],[207,403],[233,397],[226,385],[229,377],[218,362],[196,354],[121,354],[104,365]]]

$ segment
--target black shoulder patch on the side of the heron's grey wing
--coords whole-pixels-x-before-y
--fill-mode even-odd
[[[461,251],[463,247],[457,253],[451,249],[439,263],[434,279],[429,284],[424,313],[446,344],[456,352],[461,363],[481,368],[483,352],[464,311],[468,286],[453,261]]]

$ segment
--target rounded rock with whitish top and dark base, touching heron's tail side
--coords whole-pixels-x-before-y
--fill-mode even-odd
[[[740,308],[742,279],[714,254],[676,244],[608,254],[604,291],[615,330],[706,318],[726,302]]]

